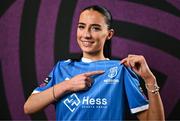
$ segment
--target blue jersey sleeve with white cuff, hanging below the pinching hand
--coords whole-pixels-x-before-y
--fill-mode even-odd
[[[147,110],[149,103],[140,87],[138,76],[130,68],[124,69],[125,92],[131,113]]]

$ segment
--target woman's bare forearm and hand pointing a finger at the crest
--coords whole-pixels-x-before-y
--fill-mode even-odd
[[[55,102],[66,93],[85,90],[91,86],[92,80],[90,76],[102,73],[104,73],[104,71],[92,71],[79,74],[70,80],[62,81],[45,91],[31,94],[24,104],[24,112],[26,114],[36,113]]]

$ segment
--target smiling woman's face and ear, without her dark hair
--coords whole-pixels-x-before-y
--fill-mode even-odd
[[[77,28],[77,42],[83,54],[103,54],[104,43],[112,37],[105,17],[94,10],[80,14]]]

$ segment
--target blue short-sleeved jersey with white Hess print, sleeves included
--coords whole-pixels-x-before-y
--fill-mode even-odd
[[[55,103],[57,120],[124,120],[125,107],[131,113],[148,109],[148,101],[140,89],[139,80],[131,69],[117,60],[94,62],[59,61],[41,92],[72,77],[96,70],[103,74],[91,76],[93,83],[83,91],[68,93]],[[56,90],[57,91],[57,90]]]

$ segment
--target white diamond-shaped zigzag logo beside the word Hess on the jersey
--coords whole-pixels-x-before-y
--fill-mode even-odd
[[[76,94],[72,94],[69,98],[66,98],[64,100],[64,104],[66,105],[66,107],[71,111],[74,112],[74,110],[78,107],[78,105],[80,104],[80,100],[77,97]]]

